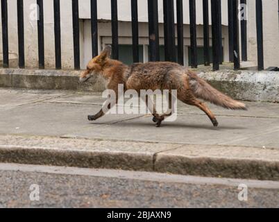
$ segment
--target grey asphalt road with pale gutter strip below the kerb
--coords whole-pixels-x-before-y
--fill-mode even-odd
[[[0,164],[0,207],[279,207],[279,182]]]

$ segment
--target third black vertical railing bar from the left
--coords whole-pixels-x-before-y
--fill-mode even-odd
[[[44,6],[42,0],[37,0],[37,7],[39,7],[39,15],[37,15],[37,45],[39,69],[44,69]]]

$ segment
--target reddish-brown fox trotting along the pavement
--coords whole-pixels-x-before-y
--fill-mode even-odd
[[[244,103],[236,101],[229,96],[212,87],[203,78],[198,77],[196,72],[187,69],[175,62],[146,62],[134,63],[133,65],[125,65],[119,60],[110,58],[112,48],[110,45],[105,46],[105,49],[88,62],[87,67],[81,72],[79,82],[85,83],[94,75],[101,75],[106,83],[106,88],[111,89],[116,94],[115,103],[106,104],[106,110],[110,110],[112,106],[117,104],[117,89],[118,85],[124,85],[124,92],[128,89],[134,89],[140,92],[141,89],[146,90],[177,90],[177,98],[187,105],[193,105],[205,112],[212,122],[214,127],[219,125],[216,117],[205,105],[208,101],[214,105],[221,106],[228,110],[247,110]],[[171,99],[173,95],[169,93],[169,108],[171,107]],[[174,113],[171,112],[158,114],[152,103],[145,99],[146,107],[152,110],[153,122],[156,127],[160,127],[165,118],[170,117]],[[150,107],[153,106],[153,107]],[[104,107],[103,107],[104,108]],[[101,109],[94,115],[88,115],[89,121],[96,121],[105,115],[105,109]]]

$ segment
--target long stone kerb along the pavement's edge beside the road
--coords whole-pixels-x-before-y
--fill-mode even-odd
[[[0,162],[279,180],[273,149],[2,135]]]

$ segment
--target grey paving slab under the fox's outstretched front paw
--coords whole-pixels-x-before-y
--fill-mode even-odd
[[[0,133],[62,136],[138,116],[108,115],[98,124],[87,120],[88,114],[95,114],[100,109],[101,105],[31,103],[0,111]]]

